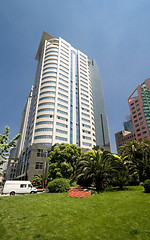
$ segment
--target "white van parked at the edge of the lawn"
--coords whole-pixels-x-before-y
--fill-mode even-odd
[[[37,193],[37,189],[30,181],[6,181],[2,190],[2,194],[10,194],[10,196],[25,193]]]

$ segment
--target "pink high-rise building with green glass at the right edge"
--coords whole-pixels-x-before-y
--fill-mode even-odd
[[[150,140],[150,78],[138,85],[128,103],[136,140]]]

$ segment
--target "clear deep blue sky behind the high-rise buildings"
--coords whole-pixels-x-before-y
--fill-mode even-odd
[[[150,77],[149,23],[149,0],[0,0],[0,133],[19,132],[44,30],[97,61],[116,152],[128,97]]]

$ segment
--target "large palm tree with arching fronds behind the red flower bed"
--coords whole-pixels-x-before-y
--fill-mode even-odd
[[[83,179],[93,182],[96,190],[104,190],[110,173],[116,171],[115,166],[119,157],[108,151],[88,151],[77,163],[72,182]]]

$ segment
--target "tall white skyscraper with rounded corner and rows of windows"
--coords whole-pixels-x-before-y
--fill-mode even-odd
[[[17,146],[18,178],[38,175],[45,161],[42,157],[57,143],[85,149],[96,146],[91,61],[62,38],[46,32],[36,60],[28,123],[22,128],[24,147]]]

